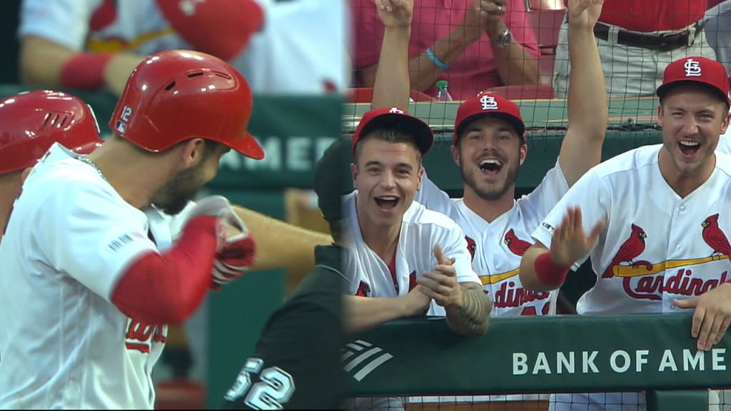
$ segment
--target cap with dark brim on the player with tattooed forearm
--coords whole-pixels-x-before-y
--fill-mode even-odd
[[[386,129],[401,129],[414,137],[421,154],[426,154],[434,143],[434,133],[431,127],[420,118],[414,117],[400,108],[379,108],[370,110],[363,114],[360,123],[355,129],[353,135],[353,153],[355,154],[355,145],[361,137],[368,135],[371,130],[383,127]]]

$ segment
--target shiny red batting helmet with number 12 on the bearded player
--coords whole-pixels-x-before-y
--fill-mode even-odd
[[[249,83],[227,62],[189,50],[155,53],[130,75],[109,127],[148,151],[205,138],[253,159],[264,150],[251,137]]]

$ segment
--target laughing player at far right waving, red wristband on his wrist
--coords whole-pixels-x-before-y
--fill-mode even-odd
[[[533,233],[536,243],[520,264],[524,286],[556,289],[591,255],[597,280],[580,298],[579,314],[694,309],[690,333],[698,350],[711,349],[731,321],[731,157],[714,153],[728,126],[728,92],[716,61],[669,64],[657,89],[663,143],[609,159],[569,189]],[[644,404],[644,393],[557,394],[552,407]]]

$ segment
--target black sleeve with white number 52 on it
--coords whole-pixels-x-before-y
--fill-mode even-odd
[[[269,318],[262,336],[224,396],[224,409],[339,410],[345,374],[343,280],[318,267]]]

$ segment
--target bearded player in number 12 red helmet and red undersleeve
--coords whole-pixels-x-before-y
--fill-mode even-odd
[[[154,407],[166,324],[254,257],[226,200],[190,203],[230,148],[263,157],[250,115],[229,64],[154,54],[115,108],[117,135],[88,157],[54,146],[34,167],[0,244],[0,407]]]

